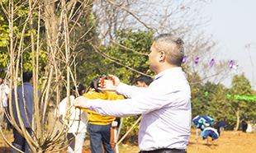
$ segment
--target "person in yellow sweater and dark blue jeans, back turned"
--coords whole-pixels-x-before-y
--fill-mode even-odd
[[[100,99],[100,100],[123,100],[122,95],[117,95],[110,91],[98,90],[98,82],[100,81],[99,77],[92,79],[90,84],[90,92],[84,97],[88,99]],[[83,109],[88,112],[88,131],[90,134],[90,146],[92,153],[102,153],[102,145],[104,151],[107,153],[114,153],[111,148],[110,139],[111,139],[111,123],[116,118],[106,115],[97,114],[94,111],[89,109]]]

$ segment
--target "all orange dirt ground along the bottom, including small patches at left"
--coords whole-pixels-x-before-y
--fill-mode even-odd
[[[200,130],[199,130],[200,131]],[[7,140],[12,142],[12,132],[5,132]],[[90,153],[89,141],[84,141],[83,153]],[[10,147],[0,136],[0,152],[9,153]],[[135,144],[127,142],[119,145],[120,153],[137,153],[139,147]],[[215,141],[211,141],[211,137],[208,140],[202,140],[202,137],[196,136],[196,129],[191,130],[190,141],[187,146],[187,153],[256,153],[256,133],[244,133],[235,131],[224,131],[220,133],[220,138]]]

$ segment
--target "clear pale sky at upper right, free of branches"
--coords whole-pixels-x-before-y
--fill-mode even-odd
[[[202,13],[211,18],[205,31],[219,42],[219,58],[235,61],[234,75],[244,72],[256,90],[256,0],[212,0]],[[221,83],[230,87],[232,77]]]

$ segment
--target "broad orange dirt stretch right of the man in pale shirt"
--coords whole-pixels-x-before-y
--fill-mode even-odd
[[[215,141],[208,137],[208,142],[199,136],[198,149],[196,129],[192,129],[191,133],[188,153],[256,153],[256,133],[224,131]]]

